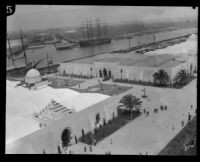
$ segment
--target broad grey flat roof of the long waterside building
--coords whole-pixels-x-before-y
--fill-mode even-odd
[[[180,56],[165,55],[140,55],[140,54],[103,54],[94,57],[74,60],[72,63],[93,64],[96,62],[118,62],[121,66],[160,67],[172,68],[183,62],[176,60]]]

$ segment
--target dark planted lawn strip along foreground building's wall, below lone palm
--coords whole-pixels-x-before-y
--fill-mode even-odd
[[[96,140],[96,143],[98,143],[140,115],[141,112],[135,112],[133,113],[133,117],[131,119],[130,112],[127,111],[122,112],[119,110],[117,117],[114,117],[112,120],[108,121],[108,123],[104,123],[94,131],[95,133],[93,134],[93,138]],[[91,144],[92,141],[91,137],[92,137],[91,132],[88,132],[87,134],[84,135],[84,137],[80,137],[79,141],[86,144]]]

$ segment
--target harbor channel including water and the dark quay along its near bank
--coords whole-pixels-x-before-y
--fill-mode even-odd
[[[167,46],[180,43],[181,41],[186,41],[190,34],[196,32],[197,30],[195,28],[172,30],[156,33],[157,40],[155,40],[155,34],[147,34],[131,37],[131,39],[112,40],[110,44],[100,44],[92,47],[80,47],[78,45],[71,45],[73,48],[70,47],[70,49],[67,46],[67,50],[65,48],[67,43],[64,44],[64,50],[57,50],[55,48],[56,44],[37,45],[26,48],[25,52],[28,62],[33,62],[33,60],[35,62],[39,60],[45,60],[48,54],[54,63],[54,65],[51,67],[51,71],[56,71],[56,68],[61,62],[70,62],[81,58],[91,57],[93,55],[100,55],[109,52],[123,54],[131,51],[133,51],[135,54],[145,54],[145,52],[148,51],[153,51],[158,48],[166,48]],[[59,45],[63,45],[63,43],[59,43]],[[16,66],[25,66],[23,51],[19,56],[14,57],[13,59],[15,60]],[[11,71],[13,71],[13,68],[14,66],[12,65],[12,60],[7,58],[8,75]],[[37,65],[37,68],[41,70],[42,73],[47,72],[49,69],[47,66],[47,61],[41,61]]]

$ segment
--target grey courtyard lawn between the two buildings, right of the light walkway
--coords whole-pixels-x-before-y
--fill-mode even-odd
[[[102,84],[102,89],[101,89],[101,85],[98,84],[86,89],[73,89],[73,90],[81,92],[81,93],[101,93],[101,94],[113,96],[113,95],[118,95],[122,92],[125,92],[130,88],[132,87]]]

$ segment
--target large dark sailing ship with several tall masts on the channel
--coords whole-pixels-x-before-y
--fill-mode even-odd
[[[82,39],[79,40],[81,47],[95,46],[98,44],[111,43],[112,38],[107,36],[107,25],[100,23],[99,18],[96,23],[87,21],[82,27]]]

